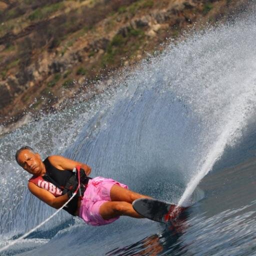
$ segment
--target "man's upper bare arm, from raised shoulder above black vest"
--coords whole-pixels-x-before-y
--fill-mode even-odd
[[[51,155],[48,157],[50,163],[58,169],[72,170],[76,165],[84,169],[86,175],[90,174],[91,167],[82,162],[77,162],[61,155]]]

